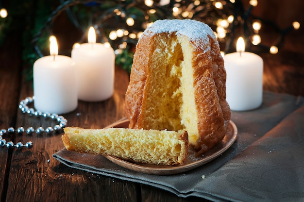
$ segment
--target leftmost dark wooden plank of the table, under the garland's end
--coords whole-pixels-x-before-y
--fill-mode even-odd
[[[0,129],[15,127],[20,86],[21,43],[20,36],[13,34],[13,42],[6,41],[0,47]],[[3,139],[13,141],[13,135]],[[6,197],[11,150],[0,147],[0,201]]]

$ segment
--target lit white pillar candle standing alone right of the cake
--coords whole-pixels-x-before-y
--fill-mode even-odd
[[[231,110],[252,110],[262,104],[263,59],[252,52],[245,52],[241,37],[237,40],[236,50],[224,56],[226,100]]]

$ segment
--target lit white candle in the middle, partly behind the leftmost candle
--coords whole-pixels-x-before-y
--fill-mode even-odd
[[[89,30],[88,42],[74,48],[71,54],[78,74],[78,99],[103,101],[114,92],[114,50],[96,43],[93,28]]]

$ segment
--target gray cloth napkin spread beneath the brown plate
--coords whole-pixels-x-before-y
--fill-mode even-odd
[[[213,161],[185,173],[150,175],[101,155],[62,149],[53,157],[71,168],[152,185],[180,197],[212,201],[304,200],[304,98],[264,92],[260,108],[232,112],[236,142]]]

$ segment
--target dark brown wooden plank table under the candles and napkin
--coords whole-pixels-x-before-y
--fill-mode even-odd
[[[293,35],[292,35],[293,34]],[[46,127],[51,120],[30,117],[18,109],[19,101],[33,96],[33,83],[23,75],[21,39],[7,41],[0,48],[0,129]],[[262,53],[265,62],[264,89],[304,96],[302,34],[287,36],[286,46],[276,55]],[[300,43],[294,43],[300,40]],[[14,47],[14,48],[12,48]],[[102,102],[80,101],[77,109],[65,115],[68,125],[103,128],[124,115],[124,95],[129,75],[119,67],[115,72],[115,93]],[[53,126],[53,125],[52,125]],[[0,201],[151,201],[198,202],[200,198],[178,198],[152,186],[104,177],[69,168],[52,155],[64,146],[57,135],[6,135],[7,141],[33,141],[32,149],[0,148]]]

